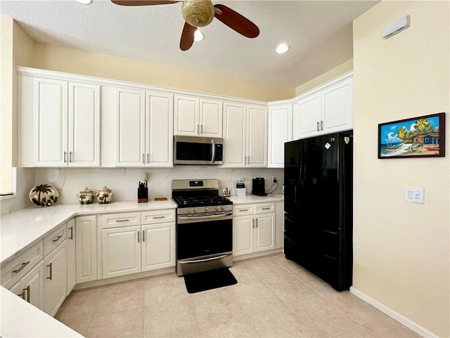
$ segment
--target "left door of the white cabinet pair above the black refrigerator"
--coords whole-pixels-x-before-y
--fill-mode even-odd
[[[321,131],[321,93],[311,93],[298,100],[298,114],[300,138],[319,134]]]

